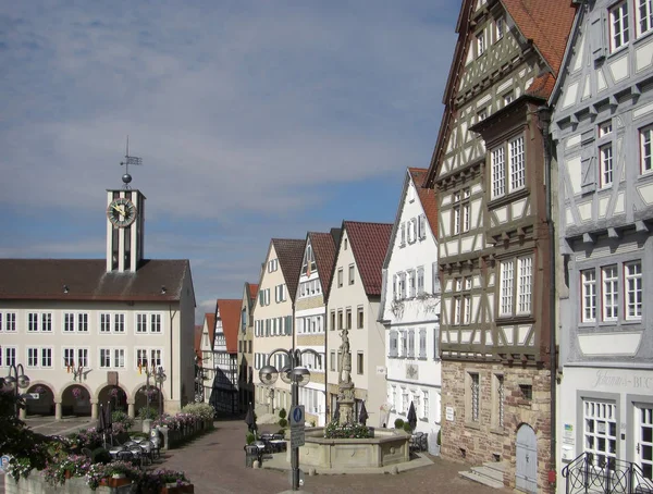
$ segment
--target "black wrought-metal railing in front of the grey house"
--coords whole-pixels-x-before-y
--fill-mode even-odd
[[[583,453],[563,468],[566,494],[653,494],[653,481],[639,465]]]

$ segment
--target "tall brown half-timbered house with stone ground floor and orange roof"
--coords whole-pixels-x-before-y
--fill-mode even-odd
[[[442,455],[552,492],[551,247],[540,107],[575,8],[465,0],[426,185],[439,199]]]

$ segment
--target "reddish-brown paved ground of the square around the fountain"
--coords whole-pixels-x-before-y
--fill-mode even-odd
[[[245,433],[242,420],[215,422],[215,431],[169,452],[161,465],[183,470],[198,494],[280,493],[289,491],[288,472],[245,467]],[[264,428],[263,431],[264,432]],[[501,494],[501,491],[461,479],[461,464],[434,459],[434,464],[398,476],[338,474],[305,478],[304,492],[322,493],[464,493]]]

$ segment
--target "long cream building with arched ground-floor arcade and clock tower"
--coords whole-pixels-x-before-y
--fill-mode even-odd
[[[112,402],[134,417],[194,400],[190,265],[145,259],[144,223],[139,190],[108,190],[106,259],[0,260],[0,374],[23,366],[21,391],[39,395],[27,413],[97,418]]]

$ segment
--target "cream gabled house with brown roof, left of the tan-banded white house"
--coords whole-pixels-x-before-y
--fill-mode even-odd
[[[270,361],[278,370],[287,366],[284,354],[270,354],[279,348],[293,348],[294,302],[305,242],[272,238],[261,272],[258,297],[254,307],[254,372],[257,413],[289,410],[291,386],[279,379],[274,385],[260,382],[258,371]]]

